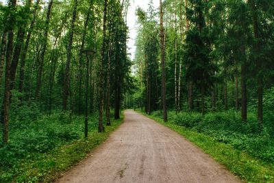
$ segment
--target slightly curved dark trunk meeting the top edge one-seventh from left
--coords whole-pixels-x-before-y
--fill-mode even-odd
[[[25,41],[25,45],[23,47],[23,51],[22,51],[22,54],[21,54],[21,64],[20,64],[20,69],[19,69],[19,85],[18,85],[18,91],[20,93],[23,93],[23,84],[24,84],[24,77],[25,77],[25,58],[27,56],[27,50],[29,49],[29,41],[30,41],[30,38],[32,36],[32,30],[34,29],[34,24],[36,22],[36,12],[39,8],[39,3],[40,3],[40,0],[37,0],[36,1],[36,4],[35,4],[35,7],[34,7],[34,12],[33,12],[33,18],[32,18],[32,22],[30,23],[30,26],[29,26],[29,31],[27,33],[27,38],[26,38],[26,41]],[[22,100],[22,98],[21,98]]]

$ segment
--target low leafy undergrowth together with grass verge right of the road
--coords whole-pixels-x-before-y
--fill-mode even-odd
[[[228,112],[227,115],[240,119],[238,113],[233,114],[233,111]],[[201,114],[197,113],[184,113],[178,114],[178,116],[180,117],[175,122],[175,119],[177,119],[175,112],[169,112],[170,118],[168,123],[162,121],[160,112],[153,112],[149,117],[188,138],[189,141],[203,149],[206,154],[210,154],[216,161],[224,164],[227,169],[238,175],[242,180],[247,182],[274,181],[274,143],[272,140],[273,137],[269,136],[269,134],[262,132],[262,134],[252,136],[251,132],[249,132],[251,127],[242,128],[238,132],[218,130],[218,127],[225,125],[220,124],[223,121],[219,122],[219,120],[225,120],[225,117],[221,117],[223,116],[222,113],[208,114],[208,117],[204,118]],[[191,120],[191,118],[195,119]],[[251,120],[253,118],[255,117],[249,117],[249,122],[252,123]],[[180,119],[188,122],[182,122]],[[206,130],[207,132],[197,132],[196,127],[199,126],[199,121],[197,120],[199,119],[202,120],[201,123],[203,125],[206,125],[203,121],[209,120],[211,124],[204,127],[204,129],[212,128],[211,132],[210,130]],[[184,127],[177,125],[177,123],[187,123],[188,125],[192,125],[192,127]],[[214,127],[212,123],[218,127]],[[232,123],[231,125],[231,129],[237,129],[236,123]],[[199,127],[199,129],[203,129],[203,127]],[[252,148],[255,151],[249,151]]]

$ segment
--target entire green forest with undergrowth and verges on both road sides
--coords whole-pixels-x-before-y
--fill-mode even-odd
[[[274,1],[144,1],[134,59],[131,3],[0,1],[0,182],[53,182],[129,108],[244,152],[253,164],[218,160],[242,180],[274,181]]]

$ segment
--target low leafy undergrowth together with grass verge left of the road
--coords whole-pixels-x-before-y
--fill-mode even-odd
[[[112,121],[104,133],[98,133],[97,117],[90,117],[88,139],[85,140],[82,137],[84,117],[74,117],[72,121],[65,120],[66,123],[57,119],[59,117],[53,114],[53,117],[42,117],[30,123],[29,127],[12,130],[10,145],[0,148],[3,153],[0,182],[54,182],[103,143],[123,121],[123,118]],[[33,135],[22,138],[32,132]]]

